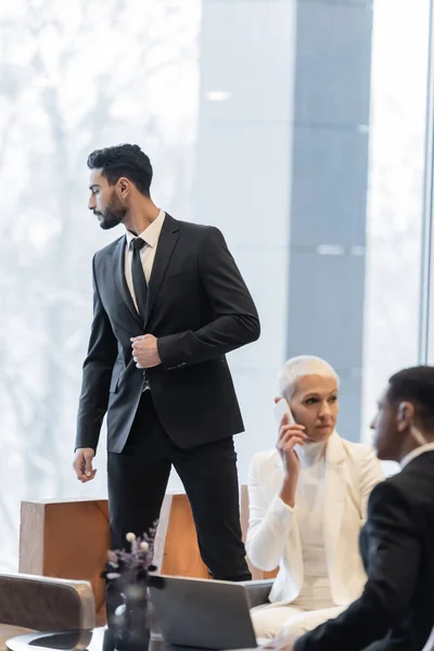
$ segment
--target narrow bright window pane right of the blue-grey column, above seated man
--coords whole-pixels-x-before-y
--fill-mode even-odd
[[[419,361],[430,1],[374,2],[363,436],[388,375]]]

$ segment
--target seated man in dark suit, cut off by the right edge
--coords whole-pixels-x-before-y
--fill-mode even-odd
[[[434,368],[393,375],[372,423],[378,457],[401,471],[372,490],[360,551],[368,580],[337,618],[285,651],[434,649]]]

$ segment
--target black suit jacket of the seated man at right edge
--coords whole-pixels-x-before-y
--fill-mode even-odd
[[[368,574],[360,599],[294,651],[423,649],[434,626],[434,451],[372,490],[360,551]]]

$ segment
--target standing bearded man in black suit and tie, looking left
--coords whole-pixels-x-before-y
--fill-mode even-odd
[[[210,574],[248,579],[232,441],[243,421],[226,354],[258,339],[255,305],[220,231],[153,203],[151,162],[138,145],[97,150],[88,167],[89,209],[101,228],[126,232],[93,257],[77,477],[94,476],[107,412],[112,545],[158,519],[174,465]]]

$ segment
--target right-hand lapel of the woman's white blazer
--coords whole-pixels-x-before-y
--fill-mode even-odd
[[[326,494],[323,503],[324,544],[328,561],[334,562],[346,497],[345,456],[334,432],[327,445]]]

